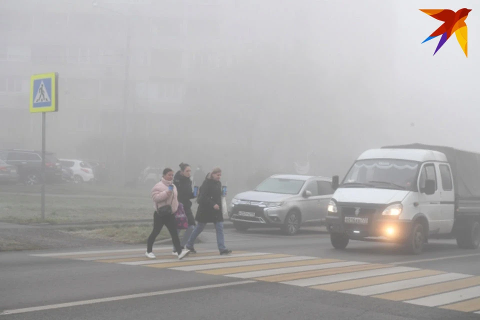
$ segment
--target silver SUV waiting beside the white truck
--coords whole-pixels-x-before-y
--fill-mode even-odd
[[[274,174],[253,191],[236,194],[228,216],[237,230],[279,226],[291,235],[307,222],[324,222],[332,194],[330,178]]]

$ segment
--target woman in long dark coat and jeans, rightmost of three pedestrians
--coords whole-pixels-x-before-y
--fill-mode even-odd
[[[225,239],[223,237],[223,215],[221,214],[221,169],[214,168],[207,175],[200,186],[198,195],[198,209],[195,219],[198,224],[190,235],[185,247],[190,252],[196,252],[193,243],[196,237],[203,231],[205,225],[209,222],[215,225],[216,243],[220,254],[229,254],[231,250],[225,247]]]

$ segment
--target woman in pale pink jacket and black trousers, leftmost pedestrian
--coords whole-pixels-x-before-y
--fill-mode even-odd
[[[178,209],[177,191],[172,182],[173,170],[165,168],[163,170],[163,177],[161,181],[155,184],[151,190],[151,199],[153,200],[153,230],[148,237],[145,255],[147,258],[156,258],[152,252],[153,242],[160,233],[163,225],[166,225],[171,235],[171,240],[175,246],[176,252],[178,252],[178,259],[181,260],[186,256],[190,250],[181,248],[180,239],[176,231],[175,216],[174,213]]]

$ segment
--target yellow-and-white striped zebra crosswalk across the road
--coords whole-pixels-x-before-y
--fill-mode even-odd
[[[200,250],[178,260],[163,246],[155,254],[149,259],[144,249],[127,249],[32,255],[277,282],[480,314],[480,276],[470,274],[268,252]]]

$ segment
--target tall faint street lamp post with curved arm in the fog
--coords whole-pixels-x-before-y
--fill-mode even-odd
[[[125,70],[124,70],[124,81],[123,81],[123,108],[121,113],[121,181],[123,185],[126,183],[126,145],[127,145],[127,131],[128,131],[128,101],[129,101],[129,84],[130,84],[130,42],[131,42],[131,15],[118,12],[113,9],[109,9],[103,6],[99,6],[97,1],[92,2],[93,7],[99,7],[106,9],[108,11],[123,15],[127,20],[127,33],[126,33],[126,45],[125,45]]]

